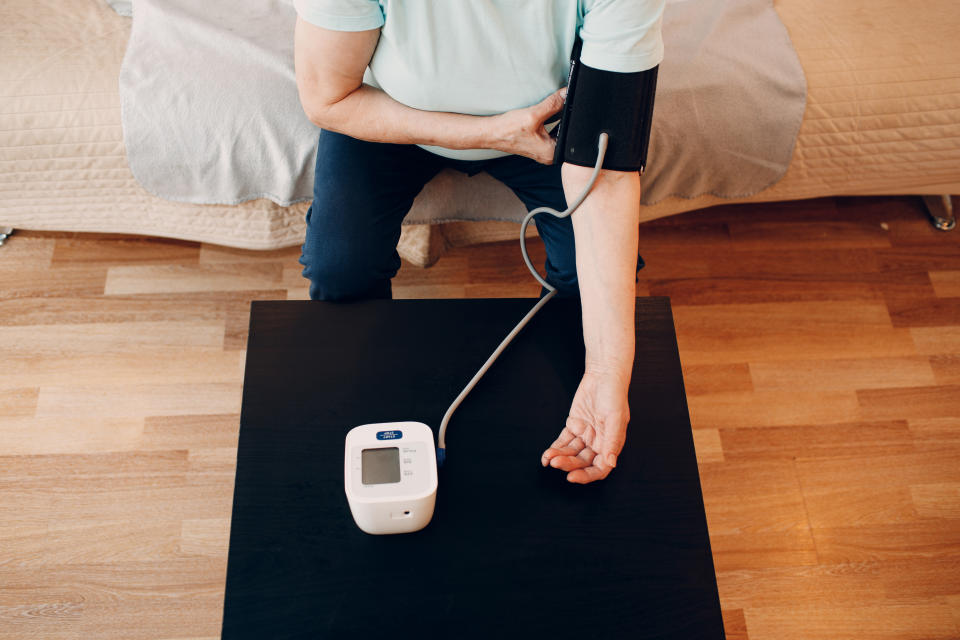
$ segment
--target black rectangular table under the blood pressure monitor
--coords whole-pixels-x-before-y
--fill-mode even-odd
[[[223,637],[722,638],[669,300],[637,304],[618,468],[580,486],[540,455],[583,373],[552,300],[454,415],[424,530],[371,536],[347,431],[439,426],[530,300],[254,302]]]

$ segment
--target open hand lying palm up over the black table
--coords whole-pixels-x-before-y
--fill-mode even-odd
[[[617,466],[627,437],[630,380],[619,374],[587,371],[573,396],[567,425],[540,463],[567,471],[567,480],[586,484],[602,480]]]

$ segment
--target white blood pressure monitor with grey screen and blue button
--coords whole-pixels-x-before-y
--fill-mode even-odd
[[[354,427],[343,474],[350,513],[367,533],[410,533],[433,517],[437,457],[433,431],[422,422]]]

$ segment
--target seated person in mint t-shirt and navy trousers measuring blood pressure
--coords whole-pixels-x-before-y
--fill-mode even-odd
[[[652,69],[664,0],[295,0],[300,101],[321,128],[303,275],[310,297],[390,297],[401,222],[444,168],[486,171],[530,211],[562,211],[592,168],[553,164],[576,37],[581,61]],[[603,169],[566,219],[535,218],[547,280],[579,296],[584,374],[541,464],[575,483],[617,464],[630,412],[640,176]]]

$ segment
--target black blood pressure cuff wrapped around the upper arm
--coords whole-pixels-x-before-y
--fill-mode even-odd
[[[650,121],[659,66],[636,73],[603,71],[580,62],[577,38],[570,60],[567,97],[556,127],[554,164],[597,164],[597,139],[609,136],[603,168],[639,171],[647,164]]]

